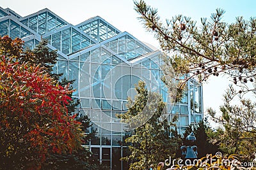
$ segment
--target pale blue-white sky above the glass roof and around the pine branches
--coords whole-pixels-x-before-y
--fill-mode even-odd
[[[207,17],[214,13],[216,8],[226,11],[224,20],[234,22],[237,16],[250,18],[256,16],[256,1],[199,1],[199,0],[145,0],[146,3],[159,10],[162,20],[171,18],[174,15],[182,14],[200,22],[201,17]],[[79,24],[84,20],[99,15],[109,23],[127,31],[141,41],[159,47],[152,34],[145,32],[143,25],[139,22],[139,16],[133,10],[132,0],[0,0],[2,8],[10,8],[22,17],[44,8],[49,8],[70,24]],[[204,108],[211,106],[218,109],[221,96],[228,85],[226,78],[214,77],[209,83],[204,84]]]

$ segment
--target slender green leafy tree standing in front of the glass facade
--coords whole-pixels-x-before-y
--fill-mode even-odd
[[[175,157],[180,140],[175,137],[170,138],[170,125],[167,120],[161,119],[165,106],[161,97],[156,93],[148,92],[143,81],[138,83],[136,91],[138,95],[135,101],[129,99],[131,106],[129,111],[119,115],[127,123],[131,123],[129,118],[136,117],[136,121],[128,125],[129,128],[136,128],[132,136],[127,136],[125,139],[125,143],[130,144],[128,147],[131,154],[123,157],[122,160],[131,162],[129,169],[147,169],[150,164],[156,166],[158,162],[168,159],[169,156]],[[147,113],[147,118],[143,117],[143,111]]]

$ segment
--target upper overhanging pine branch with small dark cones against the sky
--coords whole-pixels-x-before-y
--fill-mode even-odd
[[[170,54],[166,65],[172,66],[176,73],[178,92],[184,90],[191,78],[205,81],[220,74],[244,87],[243,93],[254,90],[247,83],[255,81],[256,75],[256,18],[237,17],[236,22],[228,24],[223,22],[225,11],[217,9],[210,18],[201,18],[200,24],[183,15],[164,23],[157,9],[145,1],[134,4],[147,31],[153,32],[162,50]]]

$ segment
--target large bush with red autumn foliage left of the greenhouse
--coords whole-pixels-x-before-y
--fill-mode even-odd
[[[20,42],[0,40],[0,164],[40,169],[49,153],[81,147],[81,130],[65,106],[72,91],[56,85],[44,67],[18,62]]]

